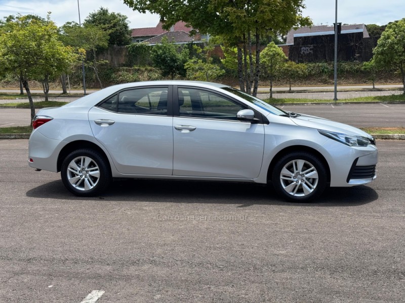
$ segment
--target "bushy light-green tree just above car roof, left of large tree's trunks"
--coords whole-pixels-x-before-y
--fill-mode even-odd
[[[214,81],[225,73],[218,65],[213,64],[211,57],[211,53],[214,49],[213,46],[206,46],[203,49],[193,45],[193,48],[197,56],[189,59],[184,65],[189,79],[209,82]]]

